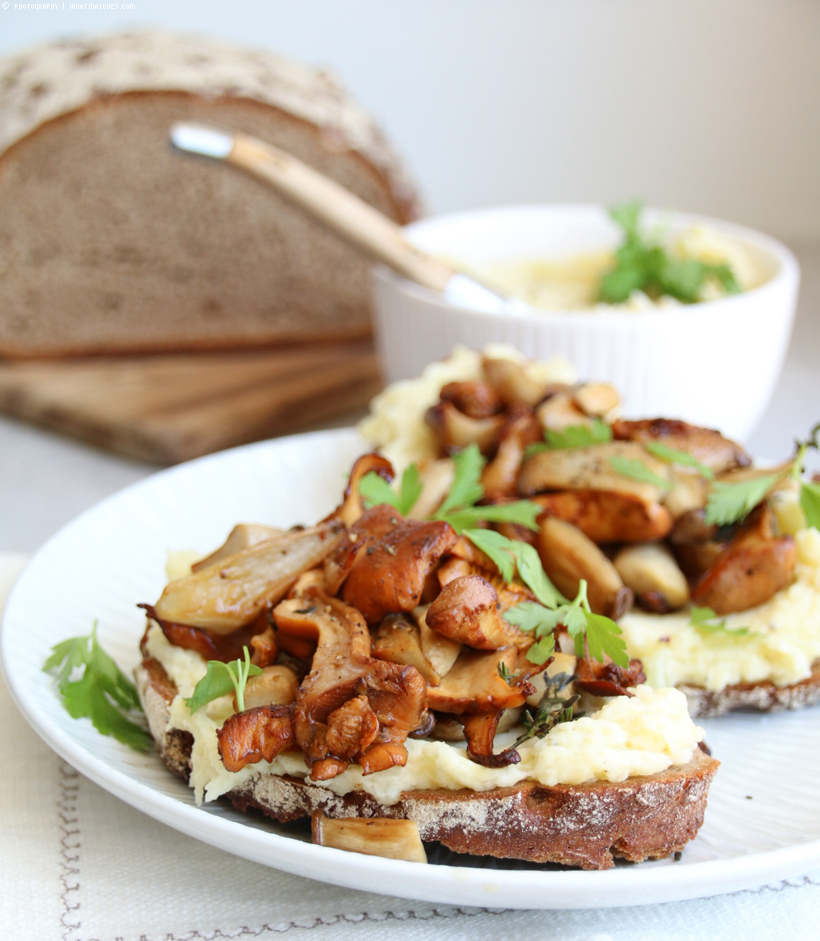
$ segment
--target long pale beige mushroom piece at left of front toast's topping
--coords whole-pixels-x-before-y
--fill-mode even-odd
[[[282,598],[302,572],[318,565],[346,538],[332,521],[242,549],[165,586],[157,618],[230,634]]]

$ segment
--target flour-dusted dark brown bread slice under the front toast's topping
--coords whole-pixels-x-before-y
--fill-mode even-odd
[[[146,658],[137,689],[165,764],[187,778],[190,735],[168,730],[176,694],[161,664]],[[186,749],[187,747],[187,754]],[[709,785],[719,762],[697,749],[688,764],[623,782],[549,787],[524,781],[476,792],[406,791],[398,803],[329,789],[277,775],[256,775],[226,797],[242,811],[256,809],[288,823],[322,810],[330,817],[415,820],[422,840],[458,853],[609,869],[615,858],[657,859],[682,850],[703,823]]]

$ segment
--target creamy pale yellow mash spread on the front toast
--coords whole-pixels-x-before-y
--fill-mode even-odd
[[[169,728],[194,735],[190,783],[197,802],[215,800],[258,774],[287,774],[311,783],[304,758],[296,752],[248,765],[237,773],[226,771],[217,752],[216,730],[233,711],[230,699],[214,700],[191,715],[184,700],[205,675],[205,661],[193,651],[173,647],[156,625],[149,631],[148,652],[179,689],[171,704]],[[625,781],[686,764],[702,738],[703,730],[689,718],[682,693],[639,686],[633,697],[616,697],[590,716],[562,723],[544,738],[525,742],[519,746],[521,762],[517,765],[485,768],[466,756],[463,745],[410,739],[403,768],[363,776],[361,768],[352,765],[337,777],[322,781],[321,786],[336,794],[363,790],[388,806],[408,790],[486,791],[523,780],[546,785]],[[499,735],[496,743],[506,747],[513,739],[514,735],[507,733]]]

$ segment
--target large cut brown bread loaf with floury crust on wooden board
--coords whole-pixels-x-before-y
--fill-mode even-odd
[[[370,330],[368,263],[179,120],[289,151],[398,222],[399,163],[326,74],[160,32],[0,62],[0,354],[247,347]]]

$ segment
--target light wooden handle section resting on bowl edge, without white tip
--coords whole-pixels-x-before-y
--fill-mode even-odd
[[[411,281],[443,291],[454,274],[449,265],[411,245],[387,216],[278,147],[237,134],[226,159]]]

